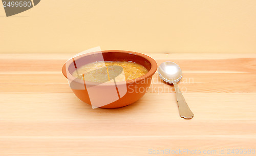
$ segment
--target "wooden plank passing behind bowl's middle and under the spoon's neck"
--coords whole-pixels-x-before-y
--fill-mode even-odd
[[[0,93],[72,93],[62,74],[0,74],[0,81]],[[183,93],[253,93],[256,73],[183,74],[178,84]],[[155,74],[148,93],[175,93],[175,90]]]

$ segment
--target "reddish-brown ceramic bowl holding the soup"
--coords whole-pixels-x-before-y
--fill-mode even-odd
[[[103,56],[104,61],[132,61],[132,62],[139,63],[148,70],[148,73],[133,80],[116,82],[116,84],[112,82],[103,83],[100,85],[98,85],[98,83],[96,82],[89,82],[89,81],[83,81],[80,79],[75,79],[75,77],[72,76],[72,73],[75,71],[75,68],[73,67],[74,65],[72,65],[74,64],[74,60],[76,60],[75,61],[76,68],[79,68],[84,64],[99,61],[97,60],[99,58],[98,57],[99,55]],[[66,66],[68,67],[68,70],[66,70]],[[156,72],[156,70],[157,70],[157,63],[153,58],[141,53],[131,52],[131,51],[122,51],[122,50],[106,50],[106,51],[102,51],[102,54],[98,52],[82,54],[74,57],[73,60],[71,59],[67,61],[62,67],[62,73],[66,78],[75,79],[73,82],[78,87],[71,87],[74,94],[80,100],[88,104],[92,104],[91,103],[92,93],[90,93],[91,100],[88,94],[88,87],[90,86],[98,85],[97,91],[96,91],[97,95],[95,95],[95,97],[96,99],[99,99],[99,100],[101,100],[100,98],[106,98],[106,96],[107,97],[109,96],[108,94],[111,94],[110,92],[111,87],[112,88],[113,86],[114,87],[120,86],[120,88],[125,87],[126,92],[125,94],[123,94],[122,97],[119,96],[119,98],[114,102],[111,102],[103,106],[96,105],[96,107],[100,107],[100,108],[119,108],[119,107],[132,104],[135,101],[139,100],[146,93],[147,88],[150,86],[152,76]]]

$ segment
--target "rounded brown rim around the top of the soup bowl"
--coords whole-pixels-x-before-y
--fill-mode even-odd
[[[145,58],[146,60],[150,61],[151,63],[151,69],[150,71],[148,71],[145,75],[142,75],[138,78],[135,78],[135,79],[132,79],[132,80],[128,80],[128,81],[120,81],[120,82],[116,82],[116,85],[122,85],[122,84],[132,84],[132,83],[140,83],[140,81],[142,80],[145,80],[151,76],[153,76],[156,71],[157,71],[157,62],[151,58],[150,56],[147,56],[145,54],[142,54],[142,53],[138,53],[138,52],[133,52],[133,51],[125,51],[125,50],[103,50],[103,51],[98,51],[98,52],[91,52],[91,53],[86,53],[86,54],[81,54],[81,55],[78,55],[78,56],[75,56],[75,57],[72,57],[71,59],[67,60],[63,66],[62,66],[62,74],[68,79],[68,76],[70,78],[72,78],[74,81],[80,83],[80,84],[87,84],[87,85],[104,85],[104,86],[112,86],[112,85],[115,85],[114,82],[109,82],[109,83],[99,83],[99,82],[92,82],[92,81],[84,81],[84,80],[81,80],[81,79],[76,79],[76,77],[74,77],[70,72],[67,73],[67,70],[66,70],[66,66],[70,66],[71,63],[73,63],[73,59],[74,58],[77,58],[77,59],[80,59],[82,57],[87,57],[89,55],[93,55],[93,54],[97,54],[97,53],[112,53],[112,52],[119,52],[119,53],[127,53],[127,54],[133,54],[133,55],[138,55],[140,57],[143,57]],[[132,60],[131,60],[132,61]],[[68,64],[67,64],[68,63]],[[67,64],[67,65],[66,65]]]

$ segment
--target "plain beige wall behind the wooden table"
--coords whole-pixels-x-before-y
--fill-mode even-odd
[[[256,1],[41,0],[5,17],[0,53],[256,53]]]

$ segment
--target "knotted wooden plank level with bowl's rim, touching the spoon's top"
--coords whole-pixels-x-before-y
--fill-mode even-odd
[[[0,57],[1,58],[1,57]],[[255,72],[256,58],[234,59],[194,59],[180,60],[164,58],[156,60],[158,65],[164,61],[173,61],[180,65],[183,71],[232,71],[232,72]],[[1,73],[15,72],[42,72],[61,71],[65,60],[41,60],[41,59],[0,59]],[[0,74],[1,74],[0,73]]]

